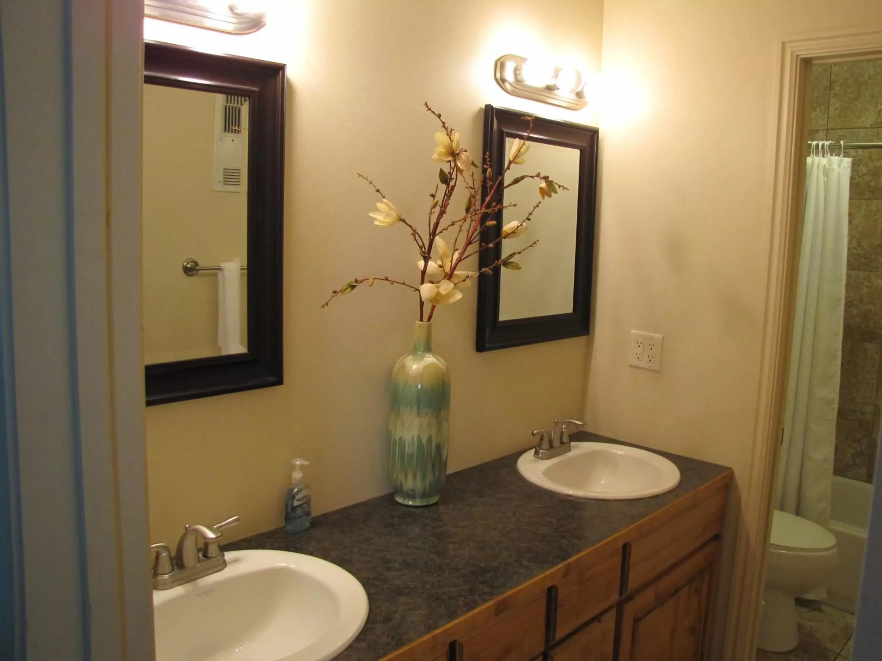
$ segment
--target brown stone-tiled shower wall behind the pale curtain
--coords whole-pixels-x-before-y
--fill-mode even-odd
[[[882,60],[812,71],[812,140],[882,142]],[[872,482],[882,387],[882,150],[852,159],[848,273],[834,472]]]

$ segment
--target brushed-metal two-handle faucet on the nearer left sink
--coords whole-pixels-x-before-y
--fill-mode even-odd
[[[168,590],[197,578],[214,574],[227,566],[221,551],[221,529],[239,523],[238,516],[231,516],[216,525],[184,525],[183,534],[177,540],[174,558],[166,544],[150,547],[153,555],[153,590]],[[199,542],[202,548],[199,548]]]

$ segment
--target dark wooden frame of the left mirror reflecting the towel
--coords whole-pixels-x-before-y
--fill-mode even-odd
[[[281,385],[285,65],[148,41],[144,82],[250,100],[248,352],[146,365],[146,403]]]

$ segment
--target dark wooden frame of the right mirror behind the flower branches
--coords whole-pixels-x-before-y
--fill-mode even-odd
[[[526,137],[527,113],[505,108],[484,107],[484,154],[490,155],[490,172],[495,181],[505,169],[508,155],[505,138]],[[576,212],[576,256],[573,269],[572,312],[561,315],[533,316],[524,319],[499,320],[499,293],[502,276],[499,269],[478,277],[479,352],[505,349],[510,346],[532,345],[556,339],[577,338],[591,330],[591,290],[594,274],[594,206],[597,197],[597,136],[598,129],[584,124],[558,122],[535,117],[530,140],[547,145],[560,145],[579,150],[579,183],[567,194],[579,196]],[[527,164],[529,161],[527,160]],[[529,167],[528,165],[526,166]],[[553,173],[547,173],[553,176]],[[488,190],[482,189],[482,202]],[[537,193],[538,195],[538,193]],[[497,192],[495,203],[504,202],[503,191]],[[503,227],[503,212],[492,215],[496,225],[482,231],[482,245],[496,241]],[[541,244],[539,247],[541,249]],[[501,258],[502,241],[479,253],[484,269]]]

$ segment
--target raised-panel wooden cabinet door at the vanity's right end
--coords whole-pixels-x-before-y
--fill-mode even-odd
[[[622,606],[619,661],[704,661],[720,543],[708,542]]]

